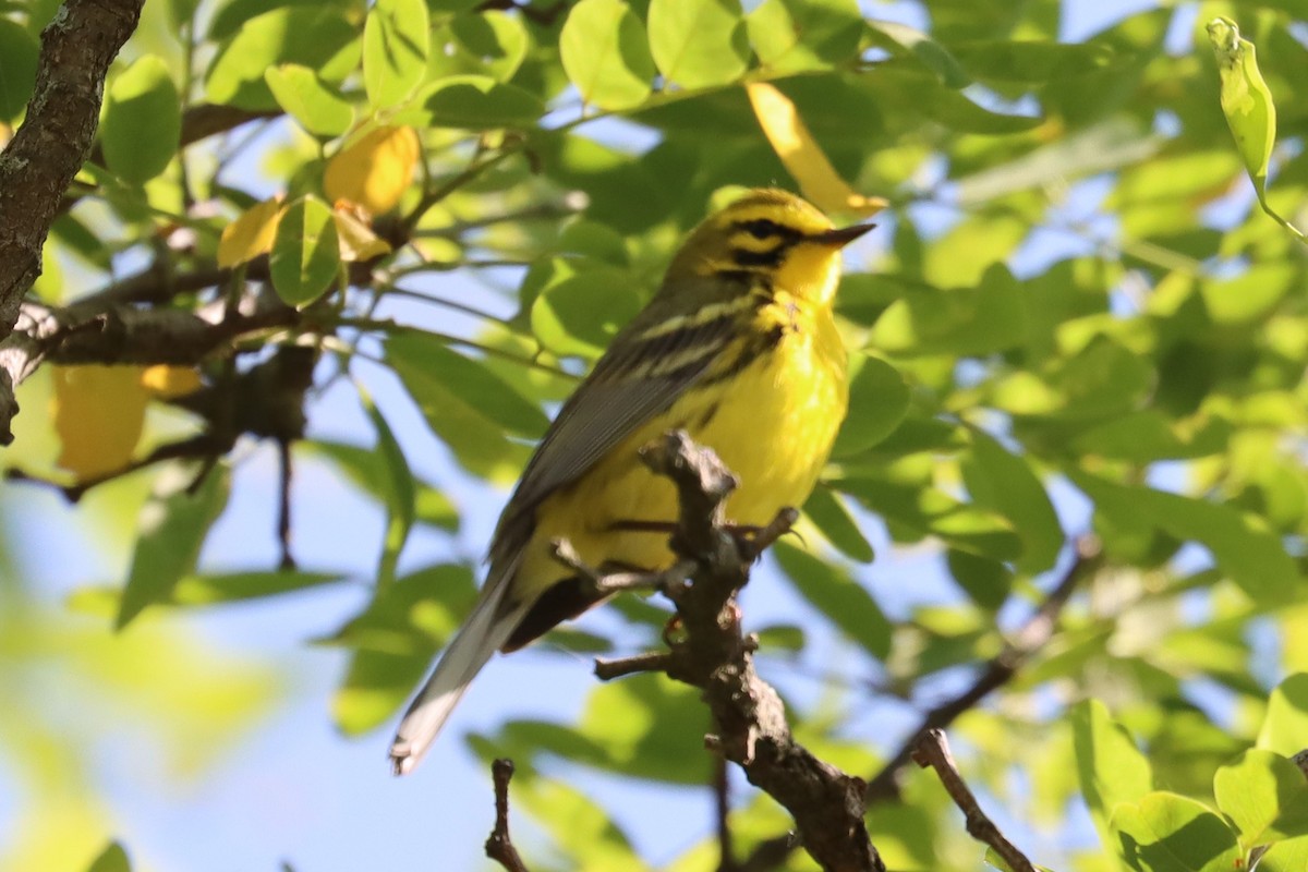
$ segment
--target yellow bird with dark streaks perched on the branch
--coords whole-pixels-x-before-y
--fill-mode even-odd
[[[684,430],[714,450],[739,480],[726,505],[739,527],[803,505],[849,404],[833,316],[841,248],[872,226],[836,227],[797,195],[753,188],[691,231],[528,460],[476,605],[396,729],[396,775],[417,766],[496,651],[515,651],[606,599],[552,543],[568,540],[600,569],[672,563],[675,489],[641,463],[641,446]]]

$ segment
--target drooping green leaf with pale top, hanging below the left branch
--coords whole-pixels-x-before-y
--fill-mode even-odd
[[[228,505],[232,475],[218,464],[188,493],[194,478],[195,471],[182,465],[167,467],[156,478],[137,522],[140,535],[115,629],[122,630],[145,607],[169,601],[177,583],[195,569],[209,527]]]

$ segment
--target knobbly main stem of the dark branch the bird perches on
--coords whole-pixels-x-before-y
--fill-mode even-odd
[[[755,671],[756,641],[740,629],[735,595],[759,548],[787,528],[793,512],[749,537],[725,523],[723,506],[736,481],[712,451],[684,433],[670,433],[641,455],[678,489],[680,518],[671,546],[695,569],[688,584],[662,583],[683,628],[670,643],[666,672],[702,690],[717,729],[705,744],[790,812],[800,843],[824,869],[884,872],[863,824],[862,780],[794,740],[781,697]]]

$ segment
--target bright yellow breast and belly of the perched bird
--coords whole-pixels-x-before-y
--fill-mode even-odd
[[[545,499],[519,570],[532,579],[531,587],[540,590],[570,574],[549,556],[556,537],[566,537],[596,567],[655,569],[671,562],[667,532],[621,527],[632,520],[676,520],[671,482],[651,473],[637,455],[668,430],[685,430],[735,473],[740,485],[727,502],[729,520],[763,526],[782,507],[802,505],[827,461],[848,401],[844,350],[838,361],[823,350],[811,335],[783,337],[725,383],[688,391],[581,480]]]

